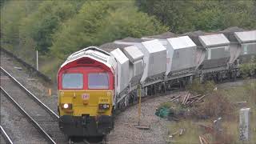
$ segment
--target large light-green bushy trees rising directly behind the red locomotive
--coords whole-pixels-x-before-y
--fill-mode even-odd
[[[90,1],[84,3],[79,14],[63,23],[54,34],[51,51],[59,58],[65,58],[86,46],[165,30],[166,27],[155,18],[138,12],[132,1]]]

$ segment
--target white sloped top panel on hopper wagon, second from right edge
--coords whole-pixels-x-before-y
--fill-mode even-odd
[[[225,37],[224,34],[210,34],[199,36],[199,41],[203,47],[223,46],[229,45],[230,41]]]

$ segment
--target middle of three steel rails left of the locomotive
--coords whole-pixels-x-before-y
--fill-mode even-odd
[[[38,124],[38,122],[36,122],[36,121],[34,120],[34,118],[32,118],[32,117],[30,116],[30,114],[28,114],[28,113],[26,112],[26,110],[24,110],[24,109],[22,108],[22,106],[19,106],[18,102],[16,102],[16,101],[14,100],[14,98],[12,98],[12,97],[10,96],[10,94],[8,94],[8,93],[6,92],[6,90],[4,90],[4,89],[2,88],[2,86],[0,86],[0,89],[1,89],[2,93],[6,96],[6,98],[8,98],[8,99],[10,100],[10,102],[12,102],[12,103],[14,104],[14,106],[16,106],[16,107],[18,108],[18,110],[20,110],[20,111],[22,112],[22,114],[25,115],[26,118],[27,118],[30,122],[32,122],[32,124],[34,125],[34,127],[35,127],[41,134],[43,134],[43,135],[47,138],[47,140],[48,140],[50,143],[54,143],[54,144],[56,143],[56,142],[54,142],[53,138],[51,138],[50,135],[46,133],[46,130],[43,130],[42,127]]]

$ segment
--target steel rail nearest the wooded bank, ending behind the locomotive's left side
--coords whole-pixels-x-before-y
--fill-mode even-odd
[[[55,119],[59,118],[58,114],[55,114],[53,110],[50,110],[50,108],[46,106],[43,102],[41,102],[34,94],[32,94],[30,90],[27,90],[26,87],[23,86],[21,82],[18,82],[18,80],[14,78],[10,73],[8,73],[5,69],[3,69],[2,66],[0,66],[0,68],[4,74],[6,74],[13,82],[17,83],[18,86],[26,92],[26,94],[29,94],[30,97],[33,98],[33,100],[37,102],[38,105],[41,106],[44,110],[46,110],[53,118]]]

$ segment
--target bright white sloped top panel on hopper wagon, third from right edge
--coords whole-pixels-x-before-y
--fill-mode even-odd
[[[196,46],[188,36],[168,38],[167,40],[170,42],[170,45],[174,48],[174,50]]]

